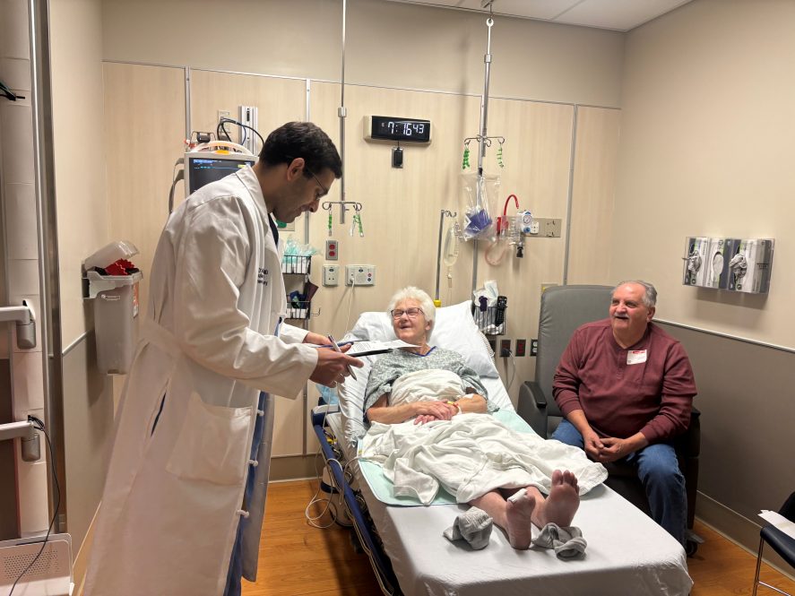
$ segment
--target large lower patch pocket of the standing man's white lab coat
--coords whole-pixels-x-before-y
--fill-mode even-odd
[[[192,393],[166,470],[187,480],[239,485],[246,474],[251,408],[204,403]]]

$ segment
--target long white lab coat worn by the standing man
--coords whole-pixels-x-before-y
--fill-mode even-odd
[[[317,362],[300,343],[306,331],[281,324],[274,336],[286,307],[281,254],[251,168],[173,213],[150,293],[84,593],[219,596],[247,514],[259,391],[295,397]]]

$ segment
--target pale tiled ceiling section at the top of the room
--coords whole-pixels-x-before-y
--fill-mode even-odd
[[[391,0],[488,13],[488,0]],[[690,0],[492,0],[495,16],[628,31]]]

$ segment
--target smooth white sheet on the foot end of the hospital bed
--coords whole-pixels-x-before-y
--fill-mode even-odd
[[[502,387],[497,379],[487,381]],[[328,422],[341,436],[341,416],[331,414]],[[344,444],[340,441],[350,461],[354,453]],[[354,462],[351,468],[405,596],[684,596],[693,584],[678,542],[606,486],[583,497],[575,516],[588,541],[585,557],[565,561],[552,550],[515,550],[497,528],[488,547],[479,551],[450,542],[442,532],[466,505],[385,505],[359,466]]]

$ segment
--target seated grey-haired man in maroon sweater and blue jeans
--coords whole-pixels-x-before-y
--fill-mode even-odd
[[[552,438],[633,464],[654,521],[684,544],[685,478],[671,441],[690,424],[696,384],[685,349],[652,323],[656,301],[651,283],[623,281],[609,318],[575,331],[552,384],[566,417]]]

